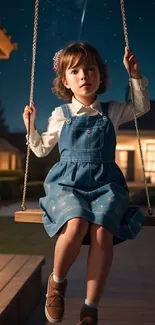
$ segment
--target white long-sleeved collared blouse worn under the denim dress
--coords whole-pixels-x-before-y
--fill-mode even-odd
[[[140,117],[150,110],[150,101],[147,91],[148,81],[145,77],[142,77],[142,79],[131,79],[131,82],[136,116]],[[72,115],[82,115],[85,113],[89,116],[97,115],[98,113],[102,115],[101,104],[98,97],[89,107],[83,106],[73,97],[72,103],[69,103],[68,106]],[[117,134],[121,124],[133,120],[132,104],[130,102],[118,103],[117,101],[110,101],[108,116]],[[47,131],[39,135],[38,131],[35,130],[35,132],[30,135],[30,148],[37,157],[45,157],[50,153],[58,142],[64,122],[65,117],[61,106],[56,107],[48,119]],[[27,135],[26,138],[28,138]]]

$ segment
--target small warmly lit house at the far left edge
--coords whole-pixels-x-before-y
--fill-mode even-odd
[[[22,168],[23,154],[6,139],[0,138],[0,171]]]

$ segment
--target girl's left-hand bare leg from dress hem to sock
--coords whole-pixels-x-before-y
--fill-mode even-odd
[[[89,228],[88,221],[74,218],[64,226],[55,246],[54,274],[65,278],[76,260],[81,243]]]

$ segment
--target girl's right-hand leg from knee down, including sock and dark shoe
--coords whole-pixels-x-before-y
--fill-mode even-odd
[[[113,235],[98,225],[90,226],[90,248],[87,259],[87,294],[78,325],[98,324],[98,303],[113,259]]]

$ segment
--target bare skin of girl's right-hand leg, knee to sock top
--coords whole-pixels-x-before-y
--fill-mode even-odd
[[[112,265],[113,234],[102,226],[93,224],[90,227],[90,238],[91,245],[87,260],[86,299],[97,303],[100,300]]]

